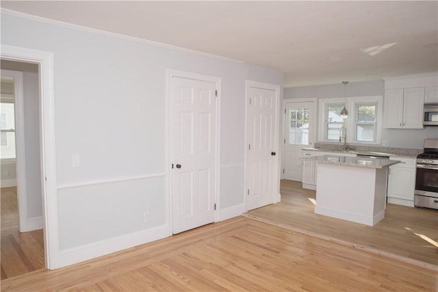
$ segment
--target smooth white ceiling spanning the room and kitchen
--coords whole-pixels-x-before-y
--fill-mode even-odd
[[[438,1],[2,0],[0,5],[275,68],[285,73],[285,87],[438,71]]]

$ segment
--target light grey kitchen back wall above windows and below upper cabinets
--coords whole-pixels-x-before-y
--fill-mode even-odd
[[[285,99],[345,96],[383,96],[383,102],[385,103],[385,83],[383,80],[377,80],[352,82],[346,86],[339,83],[284,89]],[[422,149],[424,139],[430,138],[438,138],[437,127],[424,127],[424,129],[382,129],[382,141],[388,141],[389,147]]]

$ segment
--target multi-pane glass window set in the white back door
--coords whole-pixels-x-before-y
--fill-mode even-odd
[[[309,109],[291,109],[289,144],[309,144]]]

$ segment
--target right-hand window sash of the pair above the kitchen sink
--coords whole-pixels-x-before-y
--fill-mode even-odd
[[[355,104],[355,142],[376,141],[376,104]]]

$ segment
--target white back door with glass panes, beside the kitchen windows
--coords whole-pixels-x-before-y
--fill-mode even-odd
[[[315,102],[285,103],[283,178],[302,181],[301,148],[315,142]]]

